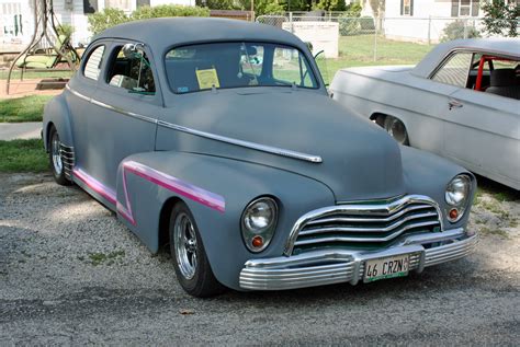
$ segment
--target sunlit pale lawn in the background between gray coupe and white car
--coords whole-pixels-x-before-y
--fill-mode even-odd
[[[326,59],[327,72],[318,63],[326,83],[342,68],[378,65],[416,65],[433,46],[398,42],[377,36],[376,59],[374,60],[374,35],[341,36],[339,58]],[[319,60],[319,59],[318,59]],[[328,74],[328,76],[327,76]]]

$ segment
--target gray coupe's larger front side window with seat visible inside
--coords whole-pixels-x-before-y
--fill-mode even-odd
[[[109,63],[106,83],[128,90],[129,93],[155,94],[156,92],[151,65],[142,49],[124,53],[123,46],[116,47]]]

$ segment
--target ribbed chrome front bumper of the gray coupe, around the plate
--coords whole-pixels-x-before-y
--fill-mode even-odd
[[[468,236],[463,229],[454,229],[410,235],[398,245],[376,252],[321,250],[251,259],[240,271],[239,284],[240,288],[250,290],[283,290],[339,282],[355,285],[363,279],[366,261],[410,254],[410,270],[420,273],[427,266],[468,255],[477,241],[476,234]]]

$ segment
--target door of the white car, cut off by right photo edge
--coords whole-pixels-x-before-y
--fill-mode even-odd
[[[450,95],[445,154],[483,176],[520,188],[520,101],[471,89]]]

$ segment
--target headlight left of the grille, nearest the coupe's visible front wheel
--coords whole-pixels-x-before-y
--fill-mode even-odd
[[[273,198],[260,197],[246,207],[241,217],[244,243],[258,253],[269,245],[278,222],[278,205]]]

